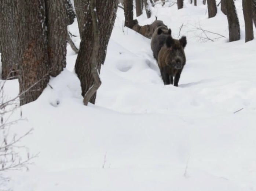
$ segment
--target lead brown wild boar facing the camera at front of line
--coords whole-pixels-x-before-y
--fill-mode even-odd
[[[164,46],[161,47],[158,54],[158,66],[165,85],[173,84],[174,77],[174,86],[178,87],[180,74],[186,64],[184,52],[186,45],[187,39],[185,36],[180,39],[173,39],[169,35],[165,40]]]

